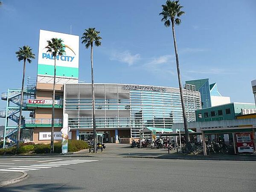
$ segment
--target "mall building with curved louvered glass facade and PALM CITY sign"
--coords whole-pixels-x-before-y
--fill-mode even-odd
[[[30,132],[35,143],[49,143],[52,118],[54,59],[46,52],[47,40],[64,40],[66,55],[56,61],[55,140],[61,140],[63,115],[68,114],[70,139],[88,140],[93,134],[92,87],[78,82],[79,36],[40,30],[38,74],[36,84],[24,91],[22,121],[23,139]],[[107,77],[106,77],[107,78]],[[183,122],[178,88],[137,84],[96,83],[96,130],[99,140],[115,143],[119,138],[138,138],[145,127],[172,128]],[[20,108],[20,90],[2,93],[7,101],[0,116],[6,119],[5,138],[15,141]],[[195,110],[201,109],[200,93],[195,86],[183,89],[188,121],[195,121]],[[14,125],[16,123],[16,125]],[[147,135],[145,135],[146,137]]]

